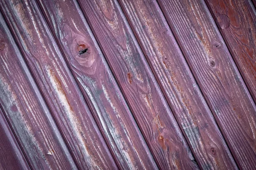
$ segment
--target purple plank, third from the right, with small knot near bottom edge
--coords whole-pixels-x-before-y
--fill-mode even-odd
[[[236,169],[224,137],[157,2],[119,2],[200,167]]]

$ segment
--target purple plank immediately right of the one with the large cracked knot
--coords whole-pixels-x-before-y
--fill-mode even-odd
[[[118,2],[79,3],[159,167],[198,168]]]

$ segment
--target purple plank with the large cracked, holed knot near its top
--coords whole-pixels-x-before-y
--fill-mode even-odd
[[[78,3],[40,0],[40,4],[84,96],[92,102],[119,168],[157,169]],[[85,48],[88,53],[80,55]]]

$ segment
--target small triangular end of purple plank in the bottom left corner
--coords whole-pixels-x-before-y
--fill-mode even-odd
[[[0,33],[1,34],[1,33]],[[1,43],[1,42],[0,42]],[[1,50],[2,48],[0,48]],[[30,169],[8,122],[0,109],[0,169],[28,170]]]

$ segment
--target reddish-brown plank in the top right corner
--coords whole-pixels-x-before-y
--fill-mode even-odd
[[[256,9],[250,0],[206,0],[256,101]]]

